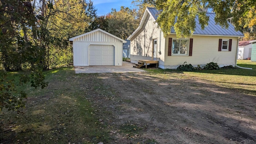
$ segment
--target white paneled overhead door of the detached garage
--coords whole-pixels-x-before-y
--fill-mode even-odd
[[[90,66],[113,66],[115,65],[114,46],[111,45],[90,45],[89,48]]]

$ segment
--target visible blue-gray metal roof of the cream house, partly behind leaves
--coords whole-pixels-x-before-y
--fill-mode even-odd
[[[156,8],[148,8],[148,11],[151,16],[156,20],[160,11],[156,10]],[[244,34],[240,31],[236,31],[232,24],[229,24],[228,28],[222,28],[219,24],[216,24],[214,21],[215,14],[214,13],[206,13],[209,16],[208,26],[202,30],[198,17],[196,17],[196,28],[194,34],[202,34],[202,35],[224,35],[224,36],[244,36]],[[171,28],[171,33],[175,33],[174,29]]]

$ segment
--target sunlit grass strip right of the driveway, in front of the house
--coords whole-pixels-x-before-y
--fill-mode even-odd
[[[151,74],[165,78],[183,78],[202,80],[223,88],[238,90],[245,94],[256,96],[256,62],[250,60],[238,60],[238,66],[252,68],[248,69],[219,69],[219,70],[196,70],[192,72],[181,72],[177,70],[144,69]]]

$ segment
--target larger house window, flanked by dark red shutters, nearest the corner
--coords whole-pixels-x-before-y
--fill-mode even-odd
[[[188,54],[188,40],[172,40],[172,54]]]

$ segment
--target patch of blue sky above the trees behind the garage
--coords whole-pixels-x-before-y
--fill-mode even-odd
[[[121,6],[130,8],[133,0],[92,0],[93,5],[97,9],[97,15],[102,16],[111,12],[111,8],[115,8],[116,11],[120,10]]]

